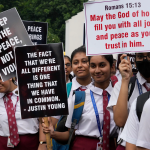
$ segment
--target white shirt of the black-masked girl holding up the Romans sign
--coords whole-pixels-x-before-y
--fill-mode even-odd
[[[140,75],[139,72],[137,73],[137,79],[138,79],[139,83],[142,85],[142,91],[143,91],[143,93],[147,92],[146,88],[143,86],[143,84],[146,83],[146,80]],[[117,100],[118,100],[118,97],[119,97],[120,88],[121,88],[121,81],[118,81],[115,84],[114,88],[113,88],[112,96],[111,96],[110,101],[109,101],[108,106],[107,106],[107,109],[110,112],[113,112],[113,106],[115,106],[117,104]],[[133,93],[132,93],[132,95],[131,95],[131,97],[130,97],[130,99],[128,101],[128,110],[129,111],[130,111],[132,102],[138,96],[139,96],[139,89],[138,89],[138,85],[137,85],[137,81],[136,81]],[[120,132],[119,132],[118,141],[120,140],[120,134],[121,134],[121,132],[122,132],[122,128],[120,129]],[[125,146],[126,142],[123,141],[121,143],[121,145]]]

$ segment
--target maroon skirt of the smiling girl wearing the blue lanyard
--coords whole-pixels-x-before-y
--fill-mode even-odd
[[[71,145],[71,150],[96,150],[98,142],[98,138],[76,136]],[[116,150],[115,140],[113,138],[109,140],[109,147],[110,150]]]

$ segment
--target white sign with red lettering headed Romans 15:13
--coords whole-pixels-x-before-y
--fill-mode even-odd
[[[87,55],[150,51],[150,1],[84,4]]]

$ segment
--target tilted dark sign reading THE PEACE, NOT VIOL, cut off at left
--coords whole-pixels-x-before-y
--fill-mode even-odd
[[[3,81],[16,76],[15,46],[32,45],[15,8],[0,13],[0,75]]]

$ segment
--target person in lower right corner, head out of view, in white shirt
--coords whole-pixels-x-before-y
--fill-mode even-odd
[[[150,99],[147,100],[143,107],[140,121],[137,116],[136,105],[137,99],[131,105],[127,122],[120,137],[127,142],[126,150],[137,150],[136,146],[150,149]]]

